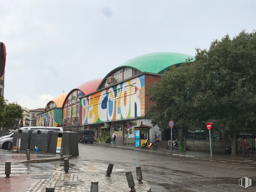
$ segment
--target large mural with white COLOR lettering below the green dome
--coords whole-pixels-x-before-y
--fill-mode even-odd
[[[145,116],[145,76],[83,97],[80,102],[82,124]]]

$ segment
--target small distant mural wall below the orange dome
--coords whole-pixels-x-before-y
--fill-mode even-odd
[[[62,125],[62,108],[54,108],[36,116],[36,126],[60,126]]]

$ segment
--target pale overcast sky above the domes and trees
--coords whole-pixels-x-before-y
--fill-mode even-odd
[[[152,52],[194,56],[256,28],[256,1],[0,0],[4,96],[29,109]]]

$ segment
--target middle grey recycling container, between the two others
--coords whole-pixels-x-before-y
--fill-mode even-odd
[[[51,144],[52,130],[35,129],[32,132],[30,140],[30,151],[45,151],[45,146],[48,149]]]

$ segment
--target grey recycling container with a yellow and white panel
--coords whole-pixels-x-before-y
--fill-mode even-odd
[[[54,131],[49,153],[60,153],[61,147],[63,148],[63,155],[79,155],[77,133],[71,131]]]

